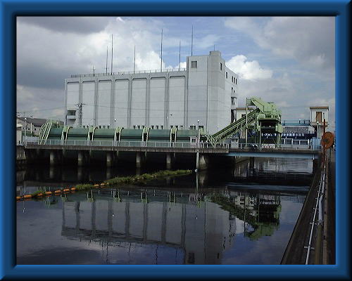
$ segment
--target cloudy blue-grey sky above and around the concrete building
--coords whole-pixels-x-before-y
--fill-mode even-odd
[[[282,119],[309,119],[310,106],[335,115],[334,17],[19,17],[17,112],[63,120],[64,80],[71,74],[181,67],[191,54],[222,53],[239,74],[239,106],[248,96],[275,102]]]

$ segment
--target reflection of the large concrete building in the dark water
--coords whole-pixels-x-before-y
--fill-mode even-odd
[[[142,194],[115,200],[96,197],[92,202],[81,198],[63,204],[62,235],[66,237],[161,244],[175,251],[182,248],[186,264],[219,264],[236,233],[227,211],[213,202],[189,202],[190,196],[177,198],[183,202],[172,202],[171,196],[169,202],[149,196],[148,203]]]

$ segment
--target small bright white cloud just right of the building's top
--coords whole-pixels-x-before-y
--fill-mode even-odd
[[[236,55],[226,62],[227,67],[239,74],[239,78],[246,80],[268,79],[272,77],[272,70],[260,67],[258,61],[247,60],[244,55]]]

